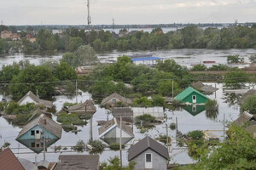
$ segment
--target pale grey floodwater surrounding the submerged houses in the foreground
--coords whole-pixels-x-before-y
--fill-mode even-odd
[[[215,83],[207,83],[208,85],[215,86]],[[222,84],[216,84],[218,91],[216,94],[209,95],[210,99],[216,99],[219,105],[219,113],[216,119],[212,120],[207,118],[206,111],[202,111],[201,113],[195,115],[190,114],[188,111],[167,111],[166,115],[168,116],[167,124],[169,125],[171,122],[175,122],[177,117],[177,129],[182,133],[188,133],[192,130],[212,130],[213,133],[217,134],[220,139],[223,139],[224,133],[224,115],[226,122],[232,122],[236,120],[239,116],[239,107],[237,105],[230,106],[229,103],[225,103],[224,93],[222,90]],[[67,97],[67,96],[55,96],[55,102],[57,111],[61,110],[62,105],[65,102],[84,102],[86,99],[91,99],[91,95],[88,93],[82,93],[81,95],[76,97]],[[98,139],[98,128],[97,122],[98,120],[107,120],[106,110],[100,108],[96,105],[96,113],[93,116],[93,138]],[[194,116],[195,115],[195,116]],[[109,117],[112,118],[111,116]],[[54,116],[54,120],[56,117]],[[133,128],[133,132],[135,138],[132,139],[128,144],[126,144],[126,149],[130,147],[130,145],[136,142],[138,139],[143,139],[145,135],[148,135],[152,138],[156,138],[160,133],[166,134],[166,124],[162,123],[160,125],[156,125],[153,129],[148,130],[146,133],[140,133],[140,130],[137,129],[136,126]],[[54,153],[54,146],[73,146],[77,143],[79,139],[84,140],[85,143],[89,141],[89,124],[84,127],[79,127],[81,132],[75,133],[66,133],[64,130],[62,131],[62,137],[55,144],[48,148],[48,152],[46,152],[46,160],[48,161],[58,161],[58,156],[60,154],[78,154],[77,152],[67,152],[61,150],[62,153]],[[15,156],[19,158],[25,158],[30,161],[40,161],[43,159],[43,153],[36,154],[26,148],[25,145],[18,143],[15,138],[20,132],[20,127],[13,127],[10,125],[3,117],[0,117],[0,145],[3,145],[4,142],[9,142],[10,148],[15,153]],[[171,130],[168,128],[168,135],[172,138],[172,152],[170,156],[172,156],[171,163],[191,163],[193,160],[188,156],[187,150],[183,150],[182,148],[177,147],[175,143],[176,130]],[[19,149],[18,149],[19,148]],[[68,151],[68,150],[67,150]],[[29,152],[29,153],[27,153]],[[82,154],[88,154],[84,152]],[[110,156],[119,156],[119,151],[106,150],[100,156],[100,161],[108,161]],[[123,151],[123,162],[125,165],[128,164],[127,161],[127,150]]]

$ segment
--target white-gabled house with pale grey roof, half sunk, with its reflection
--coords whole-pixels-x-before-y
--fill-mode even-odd
[[[134,134],[130,127],[122,122],[122,144],[126,144],[134,138]],[[99,138],[107,144],[119,143],[120,139],[120,121],[113,118],[99,128]]]

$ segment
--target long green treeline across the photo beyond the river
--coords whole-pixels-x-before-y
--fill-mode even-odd
[[[0,26],[3,30],[17,31],[14,26]],[[36,37],[36,42],[29,42],[26,34]],[[24,52],[44,53],[58,51],[75,51],[79,46],[90,44],[98,52],[117,50],[155,50],[174,48],[256,48],[256,25],[230,26],[227,28],[202,29],[187,26],[177,31],[164,33],[161,28],[153,31],[120,30],[119,34],[110,31],[84,31],[84,29],[68,28],[53,34],[52,31],[41,29],[34,31],[28,27],[20,32],[21,42],[8,42],[0,39],[0,53]]]

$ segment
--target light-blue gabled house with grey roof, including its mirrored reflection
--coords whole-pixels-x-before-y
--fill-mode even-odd
[[[42,114],[22,128],[16,140],[36,153],[61,139],[62,127],[48,116]]]

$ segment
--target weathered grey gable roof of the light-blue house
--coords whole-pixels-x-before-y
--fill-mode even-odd
[[[46,120],[46,124],[44,124],[44,120]],[[50,133],[53,133],[56,137],[61,138],[62,133],[62,127],[57,122],[54,122],[52,119],[50,119],[48,116],[45,116],[42,114],[41,116],[38,116],[38,118],[34,119],[32,122],[29,122],[26,124],[25,127],[22,128],[20,131],[18,137],[16,139],[19,139],[20,136],[28,132],[32,127],[35,126],[44,127],[46,130],[48,130]]]

